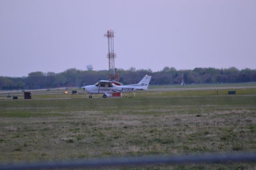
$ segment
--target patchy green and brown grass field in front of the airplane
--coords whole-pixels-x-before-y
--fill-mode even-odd
[[[234,90],[234,89],[232,89]],[[140,91],[0,100],[0,163],[256,151],[256,89]],[[22,98],[22,96],[20,96]],[[255,169],[253,163],[121,169]],[[116,169],[116,168],[115,168]]]

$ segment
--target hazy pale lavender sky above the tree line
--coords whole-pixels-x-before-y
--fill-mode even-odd
[[[0,76],[68,68],[256,69],[256,0],[0,0]]]

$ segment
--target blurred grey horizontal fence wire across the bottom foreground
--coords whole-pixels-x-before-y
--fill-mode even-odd
[[[255,153],[247,154],[202,154],[183,156],[143,156],[121,158],[98,158],[91,160],[74,160],[59,162],[35,162],[21,164],[2,164],[0,170],[38,170],[58,168],[104,168],[111,166],[143,166],[154,164],[200,164],[200,163],[226,163],[226,162],[256,162]]]

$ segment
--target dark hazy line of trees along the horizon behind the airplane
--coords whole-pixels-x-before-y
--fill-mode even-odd
[[[152,75],[151,85],[173,85],[182,82],[182,71],[174,67],[164,67],[161,71],[138,69],[118,69],[119,81],[126,84],[138,83],[144,75]],[[56,87],[82,87],[92,85],[99,80],[108,79],[108,70],[83,71],[75,68],[61,73],[36,71],[27,77],[0,77],[0,89],[46,89]],[[228,69],[195,68],[184,70],[186,84],[202,83],[244,83],[256,81],[256,69],[230,67]]]

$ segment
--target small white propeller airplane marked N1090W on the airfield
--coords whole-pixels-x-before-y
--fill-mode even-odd
[[[104,94],[103,97],[106,98],[108,93],[147,90],[151,77],[146,75],[138,84],[134,85],[115,85],[112,81],[101,80],[95,85],[87,85],[82,88],[87,93],[91,93],[89,98],[92,98],[92,94]]]

